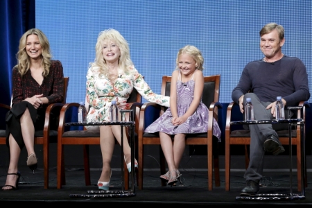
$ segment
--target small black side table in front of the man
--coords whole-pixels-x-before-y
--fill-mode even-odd
[[[289,157],[290,157],[290,193],[281,194],[281,193],[272,193],[272,194],[250,194],[250,196],[236,196],[236,200],[302,200],[305,199],[305,148],[304,148],[304,139],[301,139],[301,173],[302,173],[302,193],[295,194],[293,193],[293,175],[292,175],[292,148],[291,148],[291,127],[293,125],[300,125],[300,134],[301,138],[304,138],[304,120],[303,119],[284,119],[284,120],[261,120],[261,121],[232,121],[230,125],[252,125],[252,124],[274,124],[274,123],[288,123],[288,135],[289,135]]]

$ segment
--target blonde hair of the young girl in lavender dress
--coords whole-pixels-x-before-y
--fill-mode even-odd
[[[175,70],[179,70],[179,56],[182,54],[191,55],[191,57],[193,58],[193,60],[195,60],[198,66],[196,69],[200,71],[204,70],[204,58],[202,57],[202,52],[200,52],[200,50],[196,48],[196,46],[191,45],[184,46],[177,53],[177,59],[175,60],[176,64]]]

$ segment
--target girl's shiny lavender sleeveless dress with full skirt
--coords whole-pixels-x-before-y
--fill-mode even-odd
[[[177,80],[177,116],[182,116],[193,101],[195,81],[192,78],[187,83],[182,83],[179,78]],[[171,109],[168,107],[166,112],[150,124],[144,132],[164,132],[168,135],[176,135],[179,133],[197,134],[208,130],[208,108],[202,101],[200,101],[196,111],[181,125],[173,125],[171,123],[172,117]],[[221,131],[218,122],[214,119],[213,123],[213,135],[220,141]]]

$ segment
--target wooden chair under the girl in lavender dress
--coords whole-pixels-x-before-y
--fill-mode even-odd
[[[214,76],[205,76],[205,85],[204,92],[202,95],[202,102],[207,105],[209,108],[209,124],[208,131],[202,134],[189,134],[186,138],[187,145],[207,145],[207,162],[208,162],[208,189],[212,190],[212,173],[213,173],[213,164],[214,164],[214,173],[215,173],[215,183],[216,187],[220,187],[220,176],[219,176],[219,162],[218,162],[218,153],[213,149],[218,149],[218,139],[212,135],[213,128],[213,118],[218,121],[218,108],[222,107],[219,101],[219,88],[220,88],[220,75]],[[170,86],[171,86],[171,76],[163,76],[162,77],[162,91],[161,94],[164,96],[170,96]],[[157,109],[162,114],[166,109],[156,103],[144,103],[141,107],[140,111],[140,119],[139,119],[139,189],[143,189],[143,171],[144,171],[144,146],[145,145],[160,145],[159,133],[145,133],[145,125],[146,118],[153,117],[153,121],[155,121],[159,114],[151,115],[148,114],[149,107]],[[213,148],[214,144],[214,148]],[[162,148],[159,148],[159,156],[160,156],[160,174],[163,175],[166,173],[165,163],[166,160],[164,158],[164,153],[162,153]],[[214,158],[214,159],[213,159]],[[213,162],[214,160],[214,162]],[[160,180],[159,180],[160,181]],[[164,182],[162,182],[162,186],[166,186]]]

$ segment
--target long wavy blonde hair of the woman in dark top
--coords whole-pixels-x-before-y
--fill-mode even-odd
[[[19,69],[19,73],[21,74],[21,77],[24,76],[24,74],[30,69],[31,67],[31,60],[27,54],[26,51],[26,42],[28,35],[37,35],[40,45],[42,47],[42,60],[41,64],[44,66],[43,76],[46,77],[49,74],[50,71],[50,65],[51,65],[51,51],[50,51],[50,44],[48,38],[46,38],[46,35],[40,29],[33,28],[28,30],[24,35],[21,36],[21,39],[19,40],[19,51],[17,52],[17,69]]]

